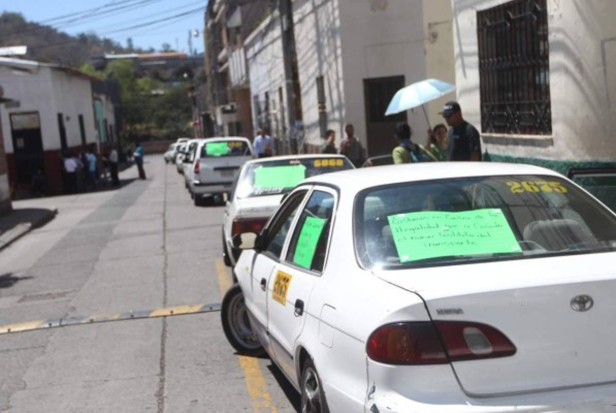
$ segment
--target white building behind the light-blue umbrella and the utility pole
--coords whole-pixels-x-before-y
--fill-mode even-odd
[[[296,0],[293,6],[306,144],[317,149],[325,129],[333,129],[339,145],[344,125],[352,123],[370,155],[388,153],[398,121],[408,121],[414,139],[424,142],[421,109],[384,113],[407,84],[426,78],[453,83],[451,2]],[[282,137],[288,125],[280,33],[274,14],[245,39],[245,49],[254,121],[267,120],[272,136]],[[442,121],[439,108],[452,97],[428,105],[432,125]]]

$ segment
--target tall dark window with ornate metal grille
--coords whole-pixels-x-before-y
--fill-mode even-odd
[[[514,0],[477,12],[483,133],[549,135],[546,0]]]

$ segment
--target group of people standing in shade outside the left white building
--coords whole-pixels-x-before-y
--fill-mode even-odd
[[[102,172],[103,182],[107,183],[107,176],[111,178],[112,186],[119,186],[118,178],[118,151],[111,148],[102,157],[102,168],[99,168],[99,158],[90,148],[78,154],[63,153],[62,173],[65,191],[75,194],[83,190],[95,190],[99,185]]]

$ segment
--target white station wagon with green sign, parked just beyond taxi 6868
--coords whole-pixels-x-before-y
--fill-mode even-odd
[[[229,193],[240,168],[253,158],[253,146],[245,137],[201,139],[185,163],[184,179],[195,205],[203,195]]]

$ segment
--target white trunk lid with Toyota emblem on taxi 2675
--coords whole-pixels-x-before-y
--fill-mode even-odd
[[[452,363],[467,393],[490,396],[616,380],[615,259],[598,253],[375,275],[418,293],[434,320],[480,322],[511,340],[513,356]],[[594,305],[575,311],[584,300],[572,300],[582,295]]]

